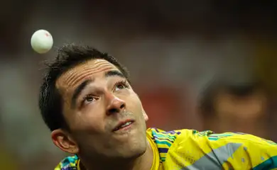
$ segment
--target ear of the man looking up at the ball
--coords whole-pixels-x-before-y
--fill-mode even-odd
[[[51,137],[53,143],[64,152],[70,154],[77,154],[79,152],[77,143],[70,137],[68,132],[65,132],[65,130],[53,130],[53,132],[51,132]]]

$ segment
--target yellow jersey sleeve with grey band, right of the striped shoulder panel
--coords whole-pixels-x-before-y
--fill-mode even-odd
[[[254,135],[180,130],[165,169],[277,169],[277,145]]]

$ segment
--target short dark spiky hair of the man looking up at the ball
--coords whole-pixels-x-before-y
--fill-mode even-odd
[[[58,56],[53,62],[46,64],[45,77],[40,86],[39,108],[45,124],[53,131],[59,128],[68,130],[63,116],[63,100],[55,84],[57,79],[72,67],[88,60],[102,59],[114,64],[119,71],[129,80],[129,72],[116,58],[105,52],[99,52],[87,45],[74,43],[64,45],[58,49]]]

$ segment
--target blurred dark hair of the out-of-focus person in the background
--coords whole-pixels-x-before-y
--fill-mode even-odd
[[[198,100],[198,108],[200,108],[200,116],[209,118],[214,115],[214,101],[217,95],[225,91],[234,96],[249,96],[258,89],[264,89],[260,81],[250,81],[246,83],[232,83],[222,79],[213,80],[206,86],[200,94]]]

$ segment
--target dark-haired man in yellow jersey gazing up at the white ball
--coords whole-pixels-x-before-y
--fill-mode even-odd
[[[252,135],[146,130],[148,116],[128,72],[92,47],[70,44],[58,51],[39,105],[53,143],[75,155],[55,170],[277,167],[277,145]]]

